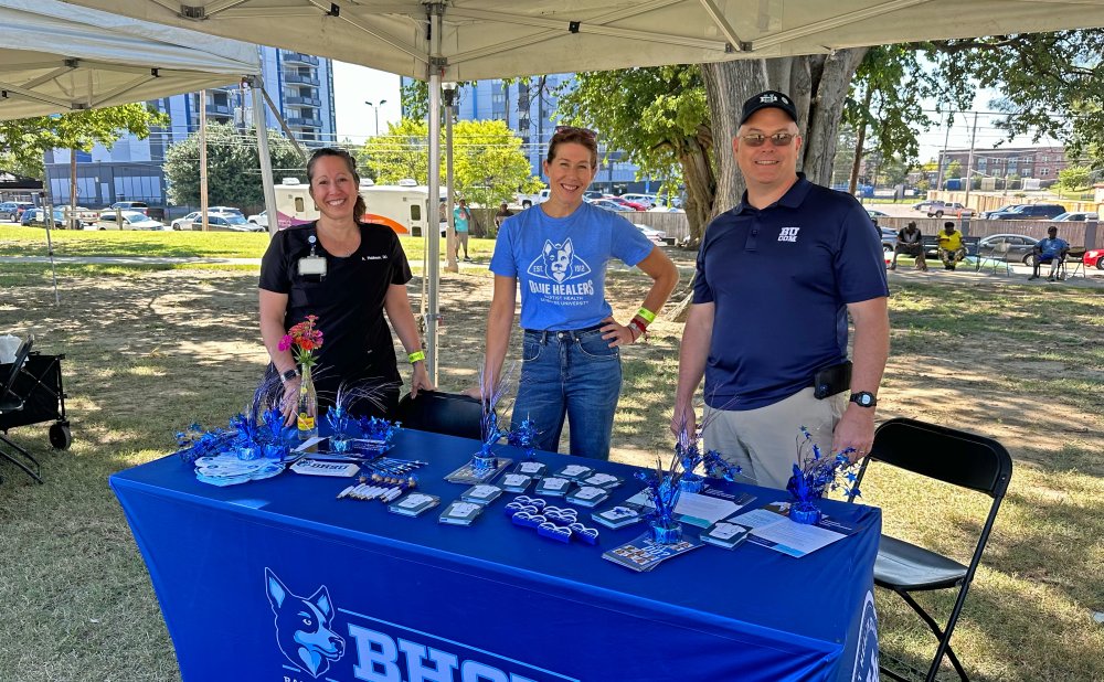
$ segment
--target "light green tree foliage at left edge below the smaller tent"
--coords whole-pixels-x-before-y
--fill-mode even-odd
[[[0,121],[0,168],[29,178],[42,178],[45,174],[43,154],[51,149],[92,151],[97,143],[110,148],[127,134],[146,139],[152,127],[168,121],[166,115],[141,103],[3,120]]]

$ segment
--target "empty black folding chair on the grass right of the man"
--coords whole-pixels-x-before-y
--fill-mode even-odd
[[[882,535],[878,546],[878,558],[874,562],[874,584],[900,595],[940,640],[935,658],[923,679],[926,682],[935,680],[935,674],[940,670],[944,654],[946,654],[955,671],[958,672],[958,676],[966,681],[969,678],[951,648],[951,636],[954,633],[955,625],[962,615],[963,605],[966,603],[966,593],[969,590],[974,573],[981,561],[981,553],[989,541],[997,510],[1000,508],[1005,491],[1008,489],[1008,482],[1012,477],[1012,459],[1008,455],[1008,450],[991,438],[924,424],[915,419],[898,418],[882,424],[874,434],[874,445],[870,456],[862,462],[859,470],[859,484],[862,483],[872,461],[892,465],[945,483],[983,492],[992,498],[989,514],[981,528],[977,546],[968,566],[889,535]],[[935,589],[958,590],[951,617],[942,628],[911,595],[914,592]],[[888,661],[887,657],[881,657],[881,660],[883,661],[881,671],[887,676],[902,681],[915,679],[904,676],[904,673],[887,667],[884,664]],[[923,670],[902,661],[894,662],[907,668],[907,672],[913,675],[925,674]]]

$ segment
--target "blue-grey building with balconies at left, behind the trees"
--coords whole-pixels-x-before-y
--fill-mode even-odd
[[[330,60],[291,50],[258,47],[265,89],[296,139],[304,146],[332,142],[336,132],[333,70]],[[112,149],[96,146],[76,152],[77,203],[88,207],[116,201],[145,201],[163,206],[166,181],[161,164],[168,148],[184,140],[200,127],[200,107],[208,122],[253,125],[253,98],[248,88],[229,86],[200,93],[173,95],[150,102],[168,114],[169,124],[151,131],[145,140],[126,136]],[[276,116],[265,108],[268,128],[279,128]],[[54,149],[45,156],[46,173],[54,203],[70,201],[70,150]]]

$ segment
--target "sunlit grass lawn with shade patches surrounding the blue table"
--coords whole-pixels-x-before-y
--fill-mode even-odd
[[[35,230],[0,227],[0,248],[18,251],[33,241],[26,234],[41,239]],[[65,236],[100,255],[84,233]],[[220,237],[231,253],[257,249],[238,257],[256,257],[264,242],[125,233],[106,234],[103,248],[118,253],[131,236],[149,238],[161,255],[180,248],[225,256],[208,241]],[[248,241],[255,236],[259,244]],[[485,259],[491,242],[477,243],[485,251],[473,255]],[[692,256],[681,258],[684,265]],[[71,450],[54,452],[46,425],[12,430],[43,461],[45,486],[0,462],[0,680],[178,679],[149,576],[106,481],[171,452],[173,434],[192,420],[224,425],[247,399],[265,364],[256,273],[65,266],[55,306],[47,266],[0,264],[0,333],[33,331],[43,352],[66,354],[75,437]],[[647,284],[620,268],[611,269],[608,283],[622,316],[639,306]],[[895,276],[891,289],[892,353],[878,418],[909,416],[991,436],[1016,462],[955,649],[975,680],[1104,680],[1104,627],[1092,620],[1104,611],[1104,294],[942,271],[919,283]],[[444,390],[474,383],[489,291],[477,270],[442,281]],[[614,425],[619,461],[645,463],[670,448],[681,326],[661,319],[652,329],[649,344],[624,353]],[[518,356],[517,334],[513,343]],[[959,560],[986,505],[892,471],[872,472],[863,499],[883,508],[888,533]],[[923,664],[934,650],[926,630],[892,595],[877,598],[882,649]],[[949,596],[921,600],[937,614],[949,608]]]

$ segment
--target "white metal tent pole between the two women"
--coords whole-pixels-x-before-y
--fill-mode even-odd
[[[429,311],[425,316],[425,369],[429,381],[437,384],[437,323],[440,320],[440,15],[444,4],[435,2],[429,10],[429,189],[426,202],[425,278],[429,283]]]

